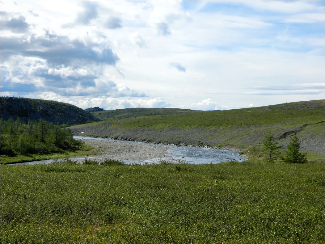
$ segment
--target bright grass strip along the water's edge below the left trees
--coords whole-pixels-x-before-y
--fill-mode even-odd
[[[61,159],[67,157],[78,157],[78,156],[91,156],[99,153],[98,150],[92,150],[93,147],[84,144],[81,150],[78,151],[66,151],[66,153],[54,153],[49,155],[39,155],[39,154],[31,154],[31,155],[18,155],[15,157],[7,157],[1,156],[0,163],[1,164],[10,164],[10,163],[20,163],[20,162],[32,162],[32,161],[41,161],[41,160],[50,160],[50,159]]]

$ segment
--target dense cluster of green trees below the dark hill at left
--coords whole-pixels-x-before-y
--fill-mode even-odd
[[[42,119],[28,123],[20,118],[16,121],[1,119],[0,126],[1,155],[62,153],[82,145],[81,141],[73,139],[70,129]]]

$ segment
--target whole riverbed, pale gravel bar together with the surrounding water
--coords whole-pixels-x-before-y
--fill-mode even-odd
[[[160,145],[144,142],[119,141],[106,138],[93,138],[85,136],[74,136],[75,139],[80,139],[86,144],[94,147],[94,150],[100,151],[100,154],[86,157],[96,161],[104,161],[105,159],[120,160],[127,164],[154,164],[162,160],[172,163],[219,163],[225,161],[244,161],[238,152],[217,148],[200,148],[188,146],[171,146]],[[72,160],[82,163],[85,156],[73,158]],[[33,161],[21,164],[39,164],[51,163],[52,160]]]

